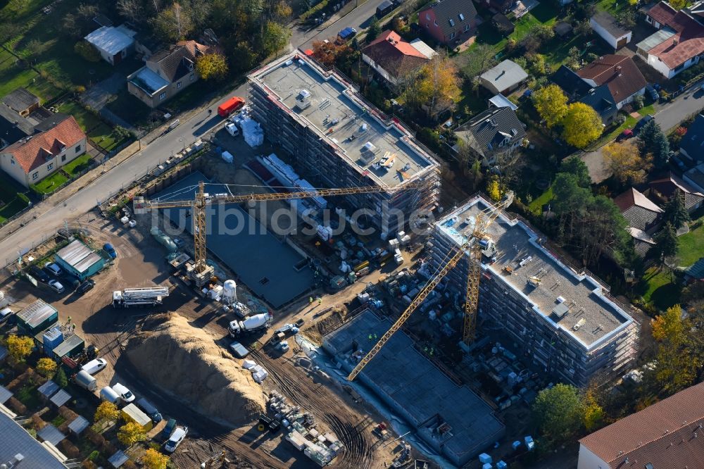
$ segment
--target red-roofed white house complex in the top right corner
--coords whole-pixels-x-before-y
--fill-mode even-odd
[[[704,54],[704,25],[698,10],[677,11],[665,1],[650,8],[646,23],[658,29],[636,45],[648,65],[665,78],[672,78],[691,67]]]

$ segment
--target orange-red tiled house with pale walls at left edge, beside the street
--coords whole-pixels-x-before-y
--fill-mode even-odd
[[[30,187],[86,152],[86,135],[73,116],[0,150],[0,168]]]

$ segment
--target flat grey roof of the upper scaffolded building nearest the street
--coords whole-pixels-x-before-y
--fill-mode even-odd
[[[415,141],[413,132],[367,104],[343,77],[325,72],[304,54],[284,56],[249,75],[249,80],[265,89],[301,125],[334,146],[349,165],[380,185],[394,187],[437,165]],[[304,90],[310,93],[311,104],[301,110],[296,107],[296,96]],[[372,152],[365,150],[367,142],[373,145]],[[375,169],[374,163],[385,154],[395,155],[393,165],[388,170]],[[363,156],[369,158],[363,160]]]

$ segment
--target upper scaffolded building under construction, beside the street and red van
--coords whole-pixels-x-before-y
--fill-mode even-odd
[[[314,186],[388,188],[344,196],[349,208],[367,209],[382,237],[402,230],[414,210],[436,206],[440,167],[429,151],[396,118],[367,104],[348,80],[303,54],[251,73],[249,104],[265,137],[282,146]],[[413,182],[420,187],[398,190]]]

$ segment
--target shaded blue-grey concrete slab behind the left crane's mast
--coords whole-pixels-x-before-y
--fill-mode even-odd
[[[210,181],[207,177],[195,171],[162,192],[154,194],[151,199],[192,199],[199,181],[206,182],[206,192],[223,191],[222,185],[215,189],[213,185],[208,184]],[[308,267],[299,270],[294,268],[294,265],[303,261],[303,256],[288,244],[280,242],[270,232],[264,231],[263,225],[237,207],[237,213],[233,213],[232,204],[214,204],[208,207],[208,249],[237,274],[238,282],[241,280],[253,293],[263,296],[274,308],[279,308],[310,289],[315,282],[313,270]],[[226,217],[220,215],[225,211]],[[170,208],[164,211],[165,216],[173,223],[192,232],[193,222],[191,218],[186,218],[187,212],[187,208]],[[223,232],[220,232],[220,229]],[[228,234],[228,231],[234,234]]]

